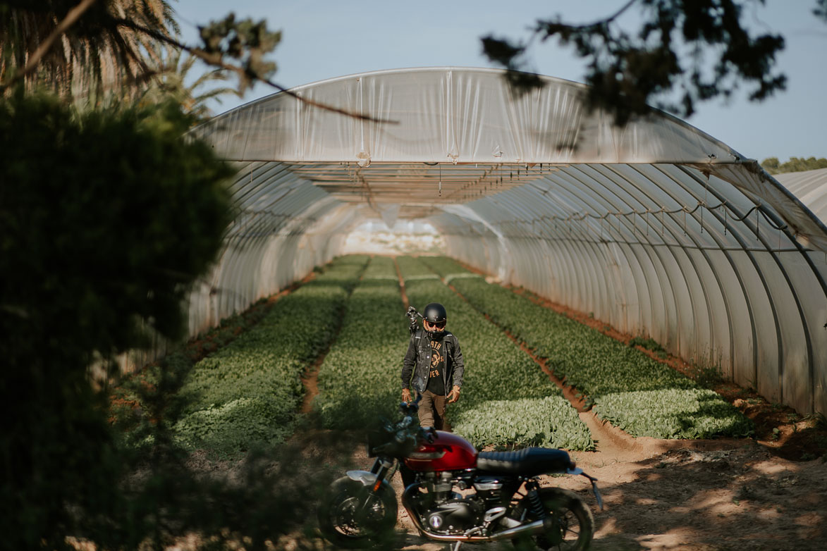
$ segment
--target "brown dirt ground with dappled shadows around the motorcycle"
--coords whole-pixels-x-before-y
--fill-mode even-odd
[[[576,492],[595,517],[592,549],[637,551],[827,549],[827,463],[783,458],[783,445],[757,439],[632,438],[581,412],[597,444],[573,456],[599,479],[604,510],[583,477],[543,477],[543,485]],[[357,468],[370,467],[359,452]],[[402,491],[394,477],[397,495]],[[436,551],[446,544],[417,534],[400,506],[403,549]],[[502,544],[466,544],[502,549]]]

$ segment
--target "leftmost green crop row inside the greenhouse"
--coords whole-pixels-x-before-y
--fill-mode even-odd
[[[257,325],[196,363],[175,425],[189,449],[235,455],[287,438],[304,393],[301,374],[335,338],[367,256],[335,259],[280,298]]]

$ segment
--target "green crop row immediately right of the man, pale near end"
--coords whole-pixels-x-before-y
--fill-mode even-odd
[[[447,329],[457,335],[466,371],[461,398],[448,409],[457,434],[477,446],[514,444],[514,430],[498,430],[506,417],[523,416],[519,442],[543,442],[566,449],[592,449],[590,433],[560,390],[527,354],[495,325],[452,292],[420,259],[399,257],[399,270],[412,306],[422,310],[440,302],[448,312]],[[510,404],[510,406],[509,406]],[[505,411],[512,412],[505,414]],[[560,430],[549,420],[523,411],[555,411]],[[565,415],[557,415],[567,411]],[[510,417],[509,417],[510,416]],[[504,425],[503,425],[504,426]]]

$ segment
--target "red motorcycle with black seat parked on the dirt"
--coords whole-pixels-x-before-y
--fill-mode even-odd
[[[399,470],[402,505],[422,536],[450,543],[511,539],[519,548],[588,549],[594,519],[574,492],[541,487],[542,474],[581,475],[591,482],[600,509],[597,479],[576,467],[562,449],[526,448],[477,452],[471,443],[414,420],[415,401],[403,402],[403,419],[385,421],[368,438],[368,471],[348,471],[333,482],[318,509],[328,541],[359,549],[387,541],[396,524],[390,478]]]

